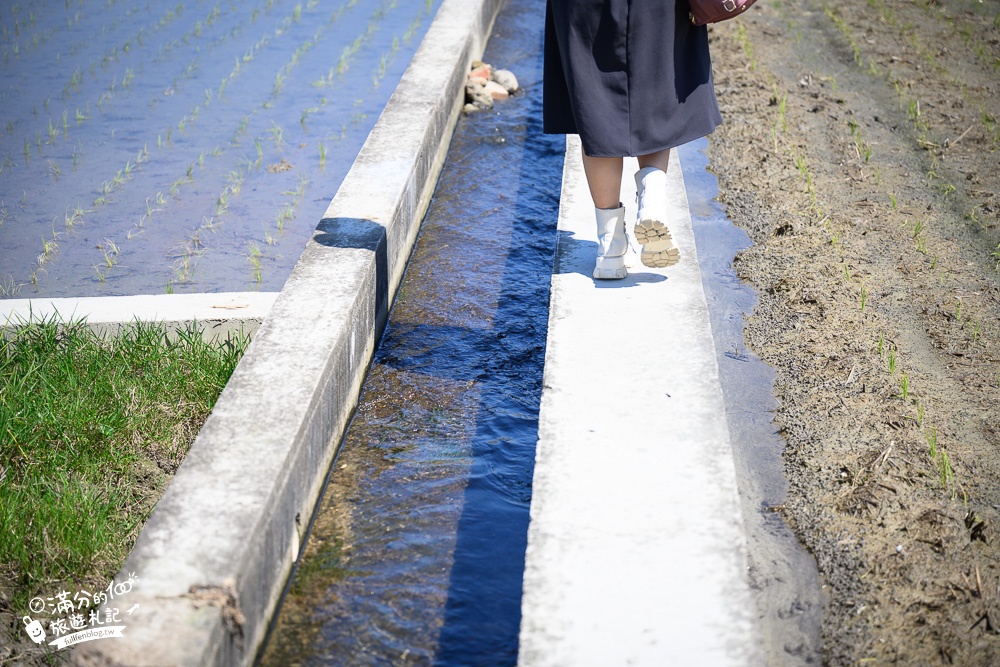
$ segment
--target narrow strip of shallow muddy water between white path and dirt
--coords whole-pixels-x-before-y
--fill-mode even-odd
[[[774,511],[788,490],[784,440],[772,421],[774,371],[743,343],[743,316],[757,305],[757,294],[736,276],[732,260],[750,239],[716,200],[718,181],[707,171],[707,146],[702,139],[680,151],[747,525],[759,627],[769,665],[815,664],[824,604],[816,563]]]

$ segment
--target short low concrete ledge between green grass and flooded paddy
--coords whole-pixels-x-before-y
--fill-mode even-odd
[[[168,332],[195,322],[207,340],[253,335],[270,312],[276,292],[100,296],[85,299],[0,301],[0,329],[10,331],[29,318],[83,320],[100,335],[114,335],[136,320],[162,323]]]

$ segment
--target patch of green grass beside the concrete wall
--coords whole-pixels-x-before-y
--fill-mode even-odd
[[[99,338],[33,320],[0,335],[0,590],[13,609],[100,587],[246,349],[135,323]]]

